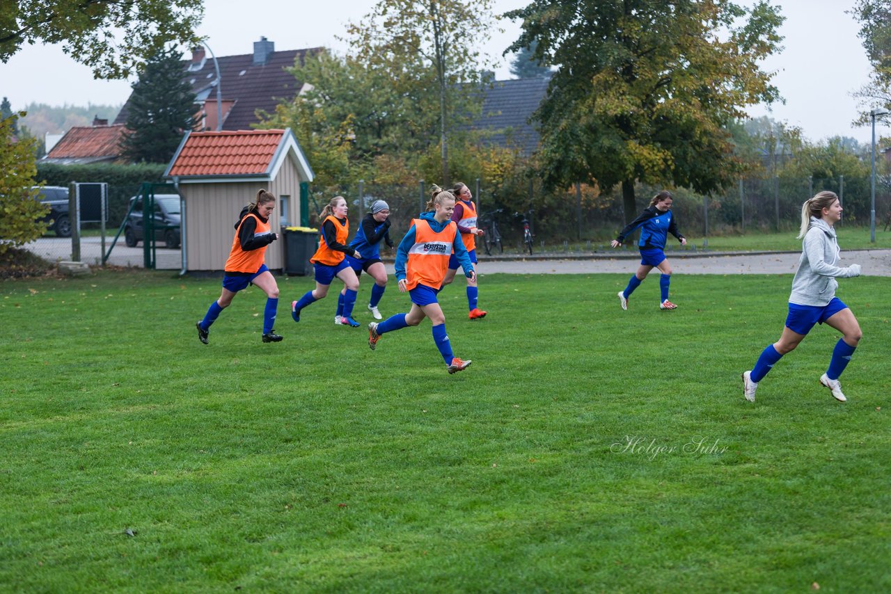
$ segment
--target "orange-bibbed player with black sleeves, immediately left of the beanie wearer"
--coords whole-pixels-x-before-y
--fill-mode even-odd
[[[362,254],[356,248],[347,246],[349,236],[349,220],[347,219],[347,200],[343,196],[335,196],[319,213],[322,229],[319,237],[319,248],[315,250],[309,261],[315,264],[315,289],[290,303],[290,317],[300,321],[300,311],[307,305],[328,295],[331,281],[336,276],[347,288],[343,297],[342,315],[347,324],[358,328],[361,324],[353,320],[353,306],[356,305],[356,294],[359,291],[359,279],[356,273],[344,261],[344,256],[361,259]]]

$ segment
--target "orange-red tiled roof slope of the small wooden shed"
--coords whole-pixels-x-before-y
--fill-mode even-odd
[[[192,132],[168,176],[265,174],[284,130]]]

